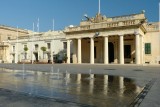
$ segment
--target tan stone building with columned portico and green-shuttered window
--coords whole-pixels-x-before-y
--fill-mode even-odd
[[[147,22],[145,12],[106,17],[98,13],[79,26],[66,27],[67,57],[70,63],[158,64],[159,23]],[[71,43],[73,53],[71,53]]]

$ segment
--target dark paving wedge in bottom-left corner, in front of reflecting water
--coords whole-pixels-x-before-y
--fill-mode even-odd
[[[93,107],[75,102],[34,97],[32,95],[0,89],[0,107]]]

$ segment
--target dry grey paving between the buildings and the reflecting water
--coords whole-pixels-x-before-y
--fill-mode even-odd
[[[160,106],[160,65],[26,64],[25,69],[49,72],[52,66],[54,69],[59,68],[60,72],[65,72],[67,70],[70,73],[89,73],[89,69],[92,69],[92,72],[96,74],[108,74],[136,78],[138,80],[137,84],[142,86],[147,84],[147,82],[151,79],[156,78],[156,82],[143,99],[140,107]],[[20,70],[22,69],[22,64],[0,64],[0,68],[1,67]]]

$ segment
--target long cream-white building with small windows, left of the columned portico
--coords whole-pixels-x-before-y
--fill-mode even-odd
[[[6,54],[8,63],[51,63],[54,55],[63,51],[66,44],[63,31],[32,32],[3,42],[9,47]]]

